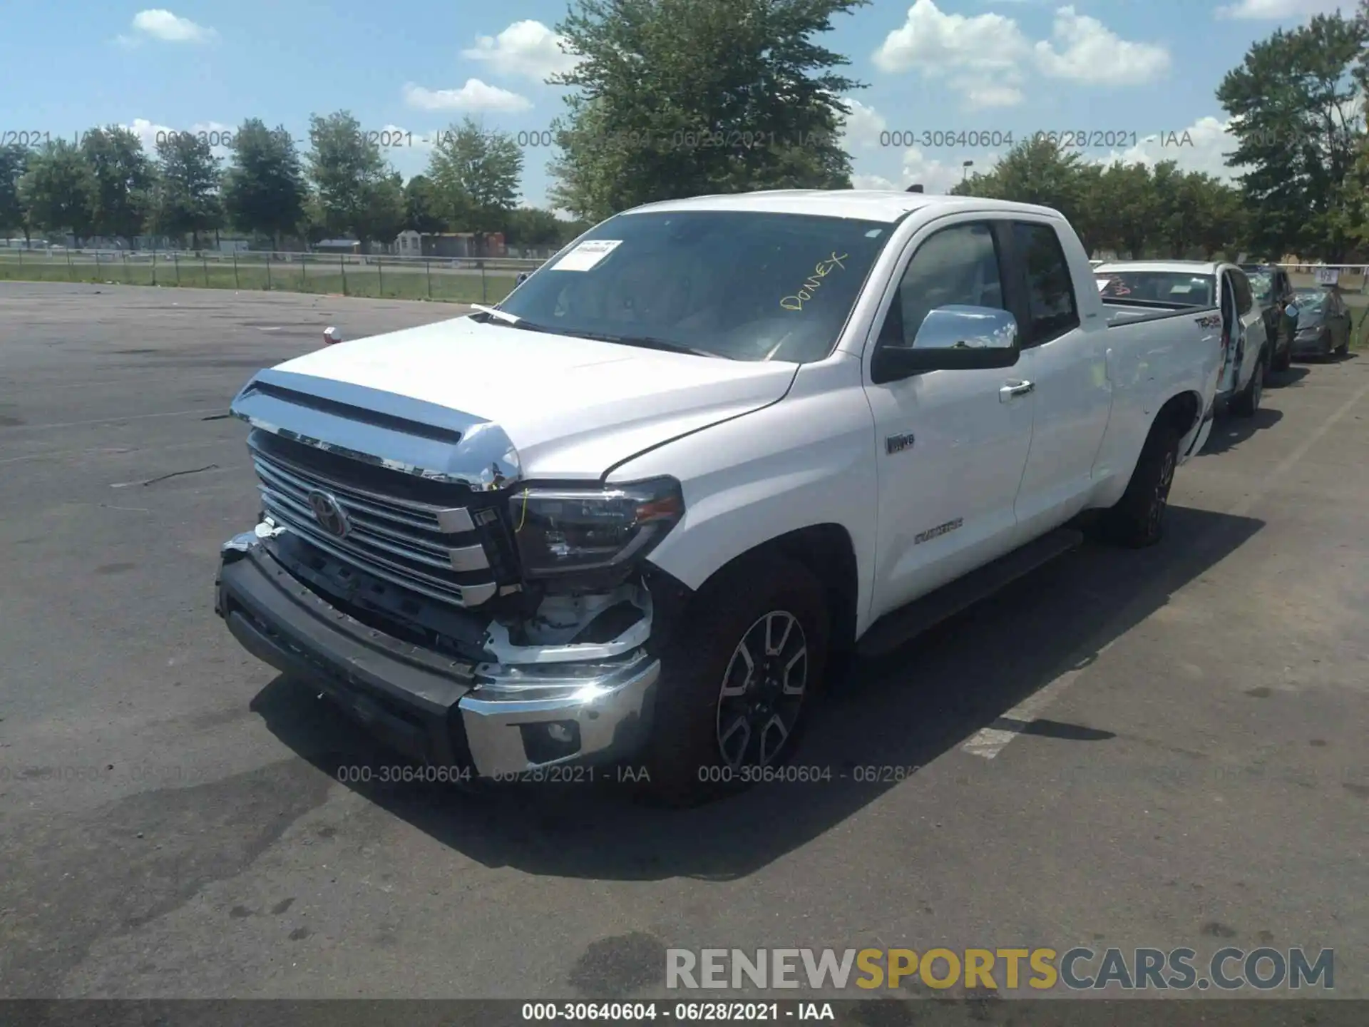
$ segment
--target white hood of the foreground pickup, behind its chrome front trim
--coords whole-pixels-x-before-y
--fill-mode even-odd
[[[333,345],[274,372],[457,411],[497,426],[526,478],[594,479],[643,449],[778,401],[797,370],[456,318]]]

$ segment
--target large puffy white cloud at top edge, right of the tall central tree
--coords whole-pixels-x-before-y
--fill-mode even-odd
[[[1028,66],[1047,78],[1139,85],[1164,74],[1170,63],[1164,47],[1123,40],[1073,7],[1058,8],[1051,38],[1034,44],[1012,18],[947,14],[934,0],[916,0],[908,8],[904,25],[884,37],[873,60],[883,71],[949,77],[971,110],[1023,103]]]

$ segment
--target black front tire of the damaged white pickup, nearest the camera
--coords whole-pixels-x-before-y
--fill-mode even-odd
[[[773,676],[746,674],[746,659],[739,655],[743,645],[747,653],[769,648],[767,627],[772,630],[771,641],[776,641],[773,635],[784,626],[789,634],[780,655],[772,659],[776,664],[789,663],[799,652],[797,646],[802,646],[804,657],[787,678],[793,686],[794,675],[804,667],[797,697],[787,694],[783,682],[776,687]],[[794,631],[801,634],[795,637]],[[648,796],[672,807],[697,805],[742,790],[764,779],[760,768],[787,761],[823,682],[830,635],[823,586],[794,560],[769,555],[743,559],[705,585],[661,653],[661,681],[645,750]],[[728,681],[739,686],[743,678],[750,682],[747,693],[723,696]],[[760,705],[749,713],[743,739],[738,735],[742,728],[734,728],[732,723],[753,704]],[[783,738],[780,728],[772,726],[776,718],[784,728]],[[753,737],[760,723],[765,727]],[[761,746],[767,746],[764,752]],[[743,759],[730,759],[738,755]]]

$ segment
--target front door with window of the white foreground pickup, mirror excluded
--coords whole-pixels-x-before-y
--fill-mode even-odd
[[[880,351],[916,346],[939,307],[1008,309],[1009,230],[1006,220],[965,215],[914,236],[876,320],[875,345],[867,346],[879,468],[872,619],[1014,545],[1035,403],[1020,368],[930,370],[888,381],[878,370]]]

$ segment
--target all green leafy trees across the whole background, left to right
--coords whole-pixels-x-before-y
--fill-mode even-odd
[[[0,230],[197,240],[229,225],[272,240],[352,234],[363,244],[419,231],[502,230],[557,244],[583,223],[654,200],[752,189],[850,186],[841,99],[864,84],[821,45],[869,0],[572,0],[557,26],[574,70],[553,123],[550,197],[580,219],[516,205],[523,155],[467,119],[444,133],[407,183],[341,111],[315,116],[309,149],[248,121],[220,171],[196,138],[155,159],[120,129],[79,145],[0,152]],[[1331,262],[1369,252],[1369,0],[1257,41],[1216,99],[1232,121],[1233,183],[1173,162],[1103,167],[1040,140],[953,192],[1064,211],[1095,251],[1143,256],[1285,253]]]

